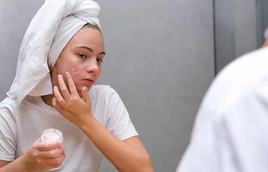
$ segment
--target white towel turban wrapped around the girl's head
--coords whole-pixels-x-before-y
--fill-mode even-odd
[[[10,91],[20,102],[27,95],[52,94],[50,69],[70,38],[84,24],[97,24],[100,6],[91,0],[46,0],[25,33]]]

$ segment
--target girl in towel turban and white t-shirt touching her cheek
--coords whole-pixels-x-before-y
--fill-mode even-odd
[[[0,104],[0,171],[98,171],[103,155],[119,171],[153,171],[117,92],[94,86],[105,56],[99,8],[47,0],[31,21]],[[64,142],[41,143],[47,128]]]

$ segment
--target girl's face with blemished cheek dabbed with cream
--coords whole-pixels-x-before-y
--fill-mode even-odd
[[[81,93],[84,86],[89,91],[101,74],[104,56],[100,31],[83,27],[70,39],[52,68],[52,86],[59,86],[57,75],[62,75],[68,88],[65,72],[70,72],[77,92]]]

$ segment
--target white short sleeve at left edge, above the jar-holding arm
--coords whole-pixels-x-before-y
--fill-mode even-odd
[[[15,116],[9,104],[0,104],[0,159],[13,161],[16,153]]]

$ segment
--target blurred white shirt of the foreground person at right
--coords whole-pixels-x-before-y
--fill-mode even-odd
[[[268,171],[268,49],[230,63],[214,80],[177,172]]]

